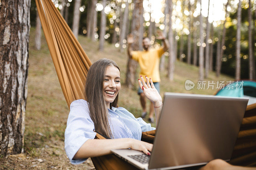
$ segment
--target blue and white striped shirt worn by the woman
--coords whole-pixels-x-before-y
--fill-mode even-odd
[[[150,123],[135,118],[123,107],[108,109],[109,125],[114,139],[133,138],[140,140],[141,132],[154,130]],[[94,123],[89,114],[87,101],[80,99],[70,104],[67,128],[65,130],[65,151],[72,164],[81,164],[86,159],[73,159],[79,148],[88,139],[94,139]]]

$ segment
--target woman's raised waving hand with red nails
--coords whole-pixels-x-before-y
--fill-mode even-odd
[[[148,98],[148,100],[150,100],[154,104],[154,107],[158,107],[155,105],[159,105],[159,103],[162,103],[162,97],[156,90],[151,78],[148,79],[148,77],[146,76],[146,82],[147,82],[146,83],[145,80],[140,76],[138,81],[139,81],[140,89],[143,91],[143,93]]]

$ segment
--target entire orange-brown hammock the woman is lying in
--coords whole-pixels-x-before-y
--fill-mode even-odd
[[[88,70],[92,63],[88,56],[85,54],[79,42],[76,40],[74,34],[72,33],[64,18],[61,16],[58,9],[55,8],[52,1],[36,0],[36,6],[44,31],[44,36],[52,56],[52,61],[56,69],[58,79],[60,81],[60,86],[68,104],[68,108],[70,108],[70,103],[72,101],[84,99],[84,85]],[[256,105],[253,105],[252,107],[248,106],[247,109],[249,109],[248,113],[250,114],[248,114],[249,116],[246,117],[250,117],[252,115],[253,116],[252,120],[247,120],[247,118],[244,118],[246,119],[245,122],[249,121],[249,123],[246,124],[254,125],[255,130]],[[255,142],[256,134],[254,131],[249,133],[249,135],[246,135],[248,133],[243,134],[245,136],[241,137],[242,139],[244,139],[244,137],[246,138],[246,136],[249,136],[249,138],[246,138],[247,143]],[[103,139],[104,137],[97,134],[95,138]],[[243,140],[241,141],[243,145]],[[239,144],[241,145],[241,143]],[[250,145],[252,147],[249,147],[249,150],[254,148],[253,152],[252,150],[248,151],[248,147],[246,146],[246,143],[244,143],[244,147],[238,147],[239,152],[237,152],[237,155],[235,155],[234,158],[238,160],[237,162],[240,165],[253,166],[256,162],[256,144],[253,146]],[[131,164],[128,164],[122,159],[116,157],[114,154],[91,159],[96,169],[137,169]],[[236,163],[236,161],[234,161],[234,163]]]

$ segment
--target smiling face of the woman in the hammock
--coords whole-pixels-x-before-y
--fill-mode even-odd
[[[121,88],[120,83],[120,71],[115,66],[108,66],[105,72],[105,78],[103,82],[103,97],[109,108],[109,104],[112,103]]]

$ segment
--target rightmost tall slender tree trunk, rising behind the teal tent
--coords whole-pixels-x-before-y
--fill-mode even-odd
[[[248,8],[248,41],[249,41],[249,79],[254,78],[255,68],[253,67],[254,57],[253,57],[253,48],[252,48],[252,4],[251,0],[249,0],[249,8]]]

